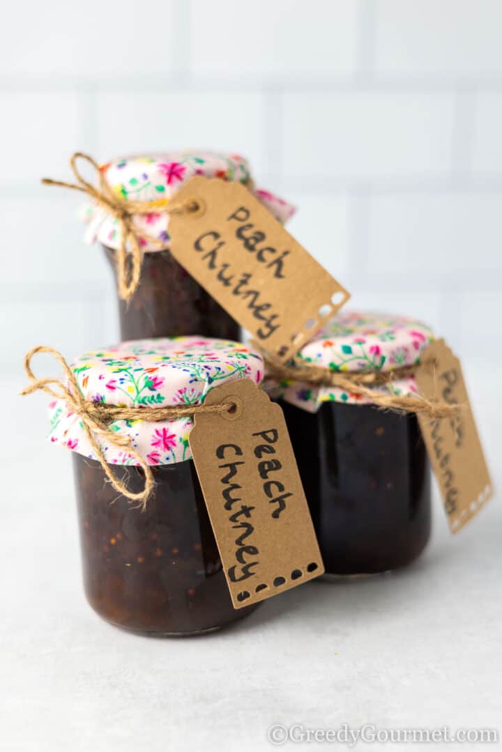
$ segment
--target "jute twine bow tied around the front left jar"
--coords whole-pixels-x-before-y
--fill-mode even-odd
[[[31,362],[32,357],[37,353],[49,353],[59,362],[65,374],[65,382],[57,378],[37,378],[35,376],[32,371]],[[232,411],[234,408],[231,400],[225,400],[216,405],[170,405],[165,408],[127,408],[120,407],[119,405],[103,405],[99,402],[90,402],[81,393],[77,378],[62,354],[54,350],[53,347],[44,347],[43,345],[33,347],[32,350],[29,350],[29,353],[26,353],[24,368],[31,383],[23,389],[21,394],[26,396],[40,390],[56,399],[63,399],[68,405],[69,410],[81,419],[90,446],[96,459],[102,466],[108,481],[110,481],[118,493],[126,496],[126,499],[129,499],[131,502],[138,502],[137,506],[143,511],[145,511],[148,498],[154,490],[154,474],[151,471],[150,465],[145,461],[145,458],[132,446],[132,438],[111,431],[109,424],[114,420],[145,420],[150,423],[158,420],[172,420],[173,418],[192,416],[199,413],[224,413]],[[106,462],[104,451],[99,444],[97,438],[99,436],[105,436],[108,444],[113,444],[115,447],[125,450],[130,456],[136,459],[138,465],[145,473],[145,486],[143,490],[137,493],[130,491],[126,484],[120,478],[117,478],[117,475],[114,475],[111,465],[108,465],[108,462]]]

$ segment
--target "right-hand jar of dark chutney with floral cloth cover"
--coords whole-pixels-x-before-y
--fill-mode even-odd
[[[431,330],[415,320],[342,311],[300,359],[333,371],[387,371],[418,362],[430,341]],[[416,391],[409,375],[381,388]],[[431,473],[415,414],[294,382],[279,388],[278,399],[325,578],[385,572],[416,559],[431,534]]]

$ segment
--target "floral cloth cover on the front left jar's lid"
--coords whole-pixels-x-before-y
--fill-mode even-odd
[[[145,420],[116,420],[111,432],[128,435],[132,446],[149,465],[168,465],[190,459],[188,434],[192,417],[148,422],[148,408],[201,405],[214,387],[226,381],[251,378],[260,384],[263,359],[244,344],[193,337],[121,342],[105,350],[85,353],[71,363],[84,398],[105,405],[145,408]],[[49,405],[49,438],[90,459],[90,447],[81,419],[63,399]],[[98,435],[111,465],[137,465],[126,450]]]

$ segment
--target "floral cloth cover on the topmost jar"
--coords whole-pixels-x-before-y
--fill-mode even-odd
[[[204,175],[230,182],[250,183],[254,196],[281,223],[285,223],[295,211],[293,205],[273,193],[254,189],[248,162],[238,154],[185,150],[127,156],[107,162],[101,170],[112,190],[126,201],[169,199],[190,177]],[[88,223],[85,235],[87,243],[99,241],[110,248],[120,247],[120,226],[117,219],[107,214],[104,208],[88,204],[84,207],[82,218]],[[143,250],[151,252],[169,248],[169,214],[152,211],[151,214],[136,216],[134,221]],[[141,231],[158,238],[160,243],[141,238]]]

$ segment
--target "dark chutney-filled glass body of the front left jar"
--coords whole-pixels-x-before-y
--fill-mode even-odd
[[[84,588],[115,626],[145,635],[196,635],[254,611],[235,610],[191,459],[152,467],[156,490],[146,511],[118,496],[99,462],[73,453]],[[141,469],[118,468],[130,490]]]

